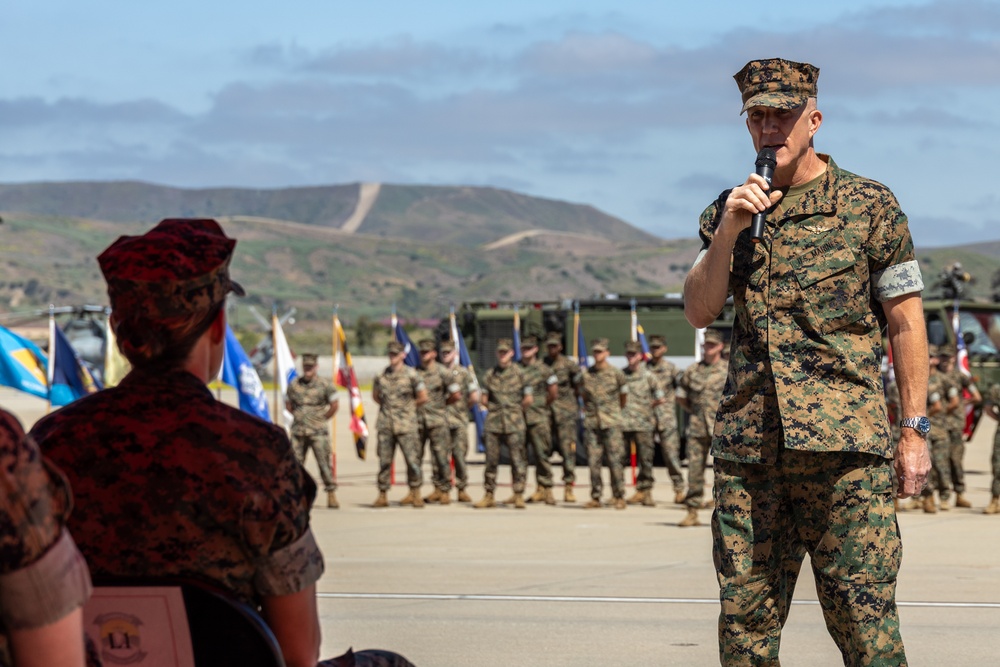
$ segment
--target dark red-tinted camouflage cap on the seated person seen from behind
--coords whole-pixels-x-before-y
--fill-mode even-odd
[[[205,313],[229,292],[236,240],[215,220],[168,218],[141,236],[120,236],[97,257],[112,310],[164,320]]]

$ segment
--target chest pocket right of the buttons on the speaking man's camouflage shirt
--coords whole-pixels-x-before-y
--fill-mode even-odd
[[[841,329],[864,317],[868,281],[863,259],[859,261],[838,232],[823,237],[808,252],[792,259],[801,290],[803,314],[810,328],[820,334]]]

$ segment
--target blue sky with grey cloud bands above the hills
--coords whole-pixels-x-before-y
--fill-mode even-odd
[[[1000,239],[998,2],[10,0],[0,44],[3,183],[493,186],[666,239],[753,171],[732,75],[810,62],[817,150],[918,246]]]

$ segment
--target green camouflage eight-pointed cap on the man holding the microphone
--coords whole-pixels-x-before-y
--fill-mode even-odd
[[[794,109],[816,96],[819,68],[784,58],[751,60],[733,75],[743,96],[743,109],[764,106]]]

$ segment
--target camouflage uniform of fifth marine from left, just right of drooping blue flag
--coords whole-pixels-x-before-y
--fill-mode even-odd
[[[486,471],[483,488],[494,493],[497,488],[497,468],[500,467],[500,447],[510,450],[510,467],[514,493],[524,493],[528,477],[528,458],[524,449],[524,410],[521,399],[531,396],[521,367],[511,364],[507,368],[494,366],[486,374],[482,386],[489,406],[486,415]]]

